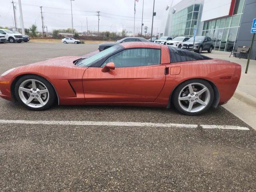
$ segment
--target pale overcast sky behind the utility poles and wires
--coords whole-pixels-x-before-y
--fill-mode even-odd
[[[179,1],[174,0],[174,4]],[[0,2],[0,26],[14,26],[11,0],[0,0]],[[154,0],[144,0],[143,22],[144,26],[148,26],[148,33],[151,32],[153,2]],[[171,2],[172,0],[155,0],[156,16],[154,16],[153,34],[159,32],[163,12]],[[25,28],[36,24],[38,31],[42,31],[40,6],[48,32],[53,29],[72,28],[70,0],[21,0],[21,3]],[[141,32],[142,4],[143,0],[136,2],[135,33]],[[18,0],[14,0],[14,5],[17,6],[17,25],[20,28]],[[73,25],[78,32],[87,30],[86,18],[88,30],[98,31],[96,11],[100,11],[100,31],[121,32],[124,27],[126,31],[133,32],[134,0],[72,0],[72,10]]]

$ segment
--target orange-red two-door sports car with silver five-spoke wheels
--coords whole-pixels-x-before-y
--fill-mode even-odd
[[[0,96],[31,110],[60,105],[170,108],[186,115],[230,100],[241,66],[150,42],[128,42],[89,58],[65,56],[10,69]]]

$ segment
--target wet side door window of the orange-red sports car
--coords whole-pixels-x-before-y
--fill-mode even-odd
[[[136,67],[160,64],[160,49],[126,49],[110,56],[101,67],[114,62],[115,67]]]

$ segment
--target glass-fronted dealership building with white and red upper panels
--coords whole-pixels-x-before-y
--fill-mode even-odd
[[[182,0],[167,5],[159,36],[209,36],[213,50],[230,52],[250,47],[256,0]],[[256,39],[251,59],[256,60]]]

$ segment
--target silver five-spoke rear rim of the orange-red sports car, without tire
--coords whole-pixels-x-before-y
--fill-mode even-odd
[[[180,107],[187,112],[200,112],[210,101],[210,91],[200,83],[186,85],[180,91],[178,102]]]

